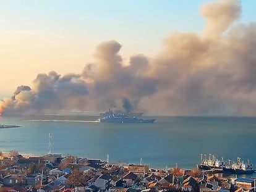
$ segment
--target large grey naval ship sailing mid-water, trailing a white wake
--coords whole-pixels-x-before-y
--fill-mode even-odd
[[[140,119],[132,115],[114,113],[110,109],[108,113],[105,112],[103,117],[98,119],[101,123],[153,123],[155,120],[156,119]]]

